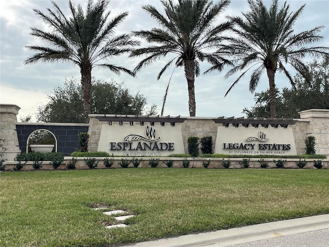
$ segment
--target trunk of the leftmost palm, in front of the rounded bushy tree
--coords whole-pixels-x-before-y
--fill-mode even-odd
[[[90,91],[92,90],[92,66],[82,66],[81,85],[83,92],[83,117],[85,122],[88,122],[88,115],[90,114]]]

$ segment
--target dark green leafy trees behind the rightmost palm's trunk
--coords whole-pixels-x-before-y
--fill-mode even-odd
[[[276,91],[277,116],[299,118],[298,112],[309,109],[329,110],[329,60],[317,61],[307,65],[312,71],[309,83],[300,75],[295,76],[296,90],[284,87]],[[255,93],[255,105],[244,108],[247,117],[270,117],[268,90]]]

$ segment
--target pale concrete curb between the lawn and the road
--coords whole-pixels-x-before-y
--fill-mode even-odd
[[[329,214],[231,228],[216,232],[189,234],[124,246],[220,247],[329,228]]]

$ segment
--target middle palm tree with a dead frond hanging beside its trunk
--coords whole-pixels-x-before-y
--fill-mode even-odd
[[[222,70],[225,64],[230,62],[212,51],[222,43],[221,34],[231,26],[230,22],[213,25],[218,14],[224,11],[230,0],[221,0],[213,4],[208,0],[161,0],[165,9],[162,15],[154,6],[146,5],[142,8],[148,12],[161,26],[151,30],[134,31],[135,36],[157,45],[135,49],[131,57],[146,55],[136,66],[134,72],[138,72],[143,66],[147,66],[167,55],[174,55],[163,66],[158,74],[159,80],[167,68],[175,63],[175,68],[184,66],[185,77],[188,84],[190,116],[195,116],[194,80],[199,76],[199,61],[207,61],[212,66],[205,72]],[[168,84],[169,86],[169,84]],[[166,92],[168,92],[168,86]],[[166,100],[164,98],[163,105]],[[161,115],[163,114],[163,107]]]

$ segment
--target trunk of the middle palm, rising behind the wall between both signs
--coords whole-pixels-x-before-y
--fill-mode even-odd
[[[187,87],[189,92],[189,111],[190,116],[195,117],[195,93],[194,93],[194,60],[184,61],[185,77],[187,80]]]

